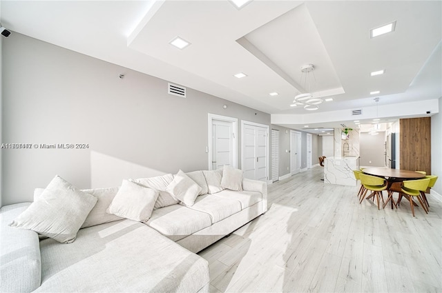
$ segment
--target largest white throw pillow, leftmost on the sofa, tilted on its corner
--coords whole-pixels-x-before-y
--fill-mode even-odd
[[[71,243],[97,198],[55,176],[38,201],[10,223],[11,227],[33,230],[61,243]]]

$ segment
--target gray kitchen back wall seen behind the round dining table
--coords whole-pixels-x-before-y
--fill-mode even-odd
[[[359,152],[361,166],[385,167],[385,132],[379,132],[378,135],[361,133]]]

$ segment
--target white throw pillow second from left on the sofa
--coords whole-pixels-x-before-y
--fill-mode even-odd
[[[123,180],[107,212],[133,221],[146,222],[152,215],[158,190]]]

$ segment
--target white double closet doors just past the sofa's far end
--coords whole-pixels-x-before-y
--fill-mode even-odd
[[[245,178],[267,181],[268,141],[267,125],[242,121],[242,170]]]

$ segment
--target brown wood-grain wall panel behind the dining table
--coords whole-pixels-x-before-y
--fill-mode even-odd
[[[401,169],[431,174],[430,117],[399,119]]]

